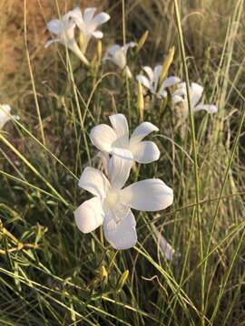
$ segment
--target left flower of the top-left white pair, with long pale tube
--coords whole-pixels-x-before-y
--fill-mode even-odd
[[[48,47],[52,43],[61,43],[67,46],[73,53],[75,53],[86,65],[89,64],[78,44],[74,38],[75,24],[70,17],[70,13],[64,14],[61,19],[53,19],[47,24],[49,32],[57,36],[54,40],[50,40],[45,43],[44,47]]]

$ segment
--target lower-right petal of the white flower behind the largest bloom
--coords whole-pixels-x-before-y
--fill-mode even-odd
[[[130,146],[133,159],[138,163],[151,163],[160,157],[160,151],[152,141],[140,141]]]

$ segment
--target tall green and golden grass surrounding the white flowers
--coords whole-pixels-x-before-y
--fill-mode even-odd
[[[3,55],[0,74],[0,101],[21,117],[0,136],[0,325],[244,324],[243,1],[102,4],[112,15],[103,51],[149,30],[130,58],[133,74],[162,63],[174,45],[171,73],[205,85],[206,101],[219,107],[180,123],[171,103],[145,99],[144,120],[159,127],[152,138],[162,156],[133,169],[131,180],[162,178],[174,204],[134,212],[138,242],[121,252],[101,229],[80,233],[73,210],[87,199],[77,178],[97,166],[90,129],[116,111],[134,129],[141,120],[137,84],[113,65],[96,73],[61,46],[43,49],[44,22],[73,5],[37,1],[42,21],[33,24],[29,2],[21,16],[14,1],[0,2],[3,40],[11,24],[22,31],[11,43],[14,72]],[[9,52],[6,44],[1,48]],[[160,253],[152,224],[174,248],[172,261]]]

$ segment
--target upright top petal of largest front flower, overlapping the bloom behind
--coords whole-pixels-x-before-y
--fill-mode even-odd
[[[132,153],[127,149],[113,149],[113,157],[108,164],[108,176],[114,189],[122,189],[132,168]]]

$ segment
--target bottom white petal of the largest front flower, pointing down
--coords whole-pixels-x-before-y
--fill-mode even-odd
[[[107,210],[103,223],[104,236],[113,248],[129,249],[137,242],[135,219],[130,209],[121,210],[119,219],[117,213],[117,210]]]

